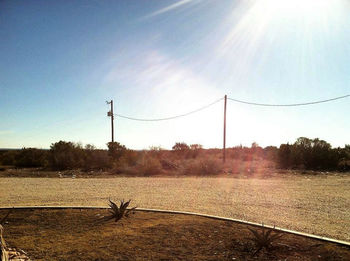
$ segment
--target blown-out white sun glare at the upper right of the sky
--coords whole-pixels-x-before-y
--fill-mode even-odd
[[[314,46],[322,47],[332,38],[337,30],[334,25],[347,15],[346,3],[344,0],[242,1],[232,8],[224,22],[224,37],[217,47],[217,56],[239,61],[235,72],[242,71],[241,77],[246,77],[252,64],[255,67],[259,64],[257,55],[264,59],[269,51],[275,51],[269,49],[273,43],[297,39],[288,53],[304,61],[305,55],[313,54]]]

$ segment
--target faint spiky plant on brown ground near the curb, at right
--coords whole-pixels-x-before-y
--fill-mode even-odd
[[[257,248],[253,256],[255,256],[263,248],[269,250],[272,246],[272,243],[283,236],[283,234],[281,234],[280,231],[275,229],[275,227],[265,228],[264,225],[262,226],[260,233],[258,230],[254,230],[249,227],[248,230],[253,234],[253,237],[249,239],[255,243]]]

